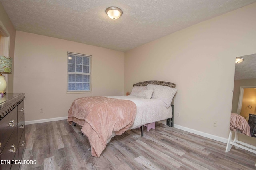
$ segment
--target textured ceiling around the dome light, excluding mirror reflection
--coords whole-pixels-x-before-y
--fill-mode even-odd
[[[128,51],[256,0],[0,0],[18,31]],[[105,13],[118,6],[123,15]]]

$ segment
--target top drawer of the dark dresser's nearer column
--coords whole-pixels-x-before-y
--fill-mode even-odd
[[[8,139],[12,135],[12,132],[17,127],[17,124],[17,107],[15,107],[0,121],[0,154],[4,149],[4,146],[7,143]]]

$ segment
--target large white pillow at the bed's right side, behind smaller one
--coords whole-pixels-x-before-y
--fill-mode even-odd
[[[154,84],[148,84],[146,89],[154,90],[152,99],[162,100],[165,103],[166,108],[170,107],[172,98],[177,92],[177,89],[175,88]]]

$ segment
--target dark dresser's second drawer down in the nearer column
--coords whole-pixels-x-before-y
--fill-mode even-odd
[[[10,139],[6,143],[4,150],[1,153],[1,160],[8,160],[10,164],[1,164],[2,170],[9,170],[12,166],[11,161],[14,159],[16,152],[18,153],[17,126],[14,129]]]

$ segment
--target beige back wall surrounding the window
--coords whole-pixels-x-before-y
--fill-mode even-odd
[[[123,52],[21,31],[15,44],[14,92],[26,94],[26,121],[67,116],[79,97],[124,95]],[[92,93],[66,93],[67,52],[92,55]]]

